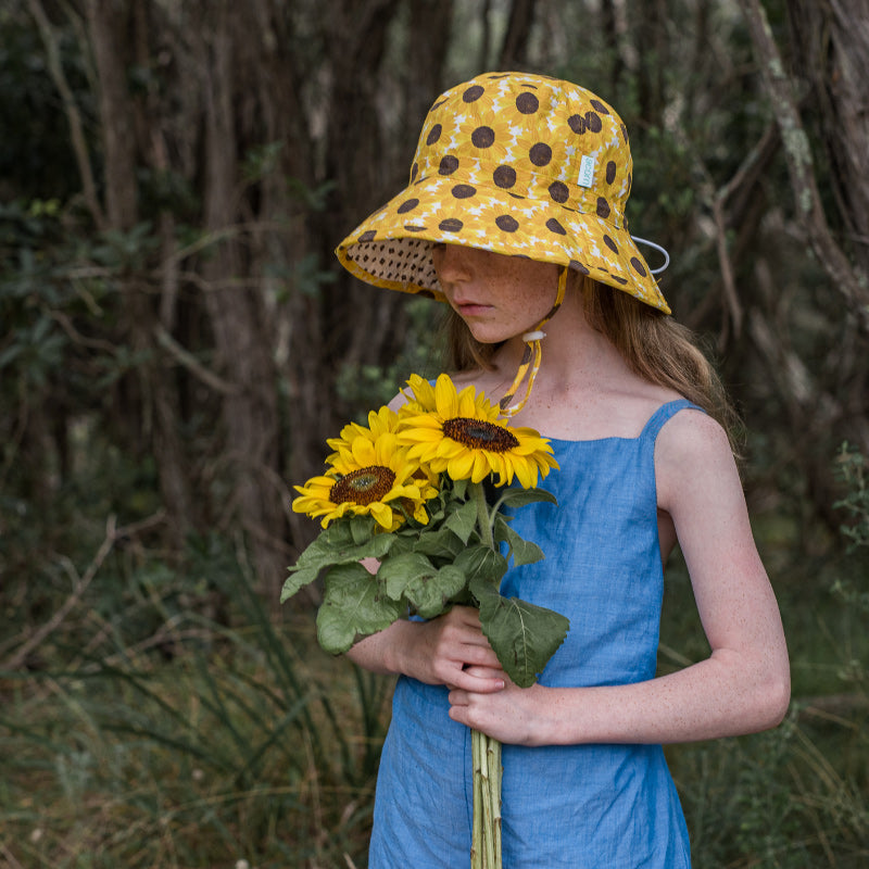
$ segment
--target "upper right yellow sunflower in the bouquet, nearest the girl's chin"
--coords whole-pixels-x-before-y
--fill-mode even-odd
[[[419,378],[421,380],[421,378]],[[558,465],[545,438],[530,428],[511,428],[498,418],[499,408],[473,386],[457,391],[442,374],[430,383],[411,378],[414,401],[400,412],[398,440],[410,446],[408,457],[454,480],[481,482],[498,475],[496,484],[537,486]],[[420,413],[423,411],[423,413]]]

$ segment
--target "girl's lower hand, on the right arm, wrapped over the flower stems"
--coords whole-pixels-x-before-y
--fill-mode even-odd
[[[489,694],[450,692],[450,718],[511,745],[541,744],[541,710],[547,689],[533,684],[518,688],[501,669],[469,667],[479,678],[501,678],[504,688]]]

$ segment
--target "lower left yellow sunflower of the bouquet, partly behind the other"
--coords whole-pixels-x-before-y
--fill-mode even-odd
[[[408,457],[407,448],[400,446],[391,431],[374,440],[356,434],[336,444],[324,476],[294,487],[300,496],[292,502],[293,511],[322,516],[324,528],[347,515],[370,515],[385,531],[394,531],[408,515],[427,524],[425,502],[438,492],[427,478],[415,476],[419,464]]]

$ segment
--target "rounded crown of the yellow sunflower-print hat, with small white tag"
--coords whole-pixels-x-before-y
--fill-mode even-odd
[[[547,76],[488,73],[436,100],[411,186],[434,176],[484,185],[621,227],[631,173],[627,130],[604,100]]]

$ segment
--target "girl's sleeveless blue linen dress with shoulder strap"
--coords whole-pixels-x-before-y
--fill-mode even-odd
[[[655,676],[664,571],[655,440],[679,411],[660,406],[638,438],[551,439],[558,505],[516,511],[545,558],[511,569],[502,593],[570,619],[540,682],[612,685]],[[470,730],[448,690],[401,677],[377,781],[369,869],[462,869],[471,830]],[[659,745],[503,746],[504,869],[687,869],[688,830]]]

